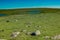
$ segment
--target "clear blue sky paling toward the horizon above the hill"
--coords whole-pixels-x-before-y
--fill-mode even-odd
[[[60,8],[60,0],[0,0],[0,9]]]

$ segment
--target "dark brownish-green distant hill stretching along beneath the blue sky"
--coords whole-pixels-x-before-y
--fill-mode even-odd
[[[0,14],[28,14],[31,11],[37,11],[39,13],[56,13],[60,12],[60,9],[54,8],[25,8],[25,9],[6,9],[0,10]]]

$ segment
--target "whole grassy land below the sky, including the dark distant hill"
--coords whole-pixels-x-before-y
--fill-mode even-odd
[[[34,12],[30,12],[31,10],[38,10],[40,12],[34,14]],[[0,14],[8,14],[8,16],[0,17],[0,39],[46,40],[44,38],[45,36],[52,37],[60,34],[60,9],[8,9],[0,10]],[[29,26],[29,24],[30,27],[26,27]],[[31,36],[27,35],[24,32],[21,32],[22,30],[26,30],[27,32],[34,32],[36,30],[40,30],[41,34],[39,36]],[[11,34],[14,31],[18,31],[20,32],[20,34],[16,38],[11,39]]]

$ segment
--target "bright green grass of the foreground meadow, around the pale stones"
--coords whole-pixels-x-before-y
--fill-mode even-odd
[[[22,16],[21,16],[22,15]],[[44,36],[54,36],[60,34],[60,14],[59,13],[40,13],[40,14],[21,14],[11,15],[6,17],[0,17],[0,29],[4,32],[0,32],[0,38],[10,40],[10,35],[13,31],[21,31],[26,29],[27,31],[35,31],[39,29],[41,31],[40,36],[30,36],[21,32],[18,37],[12,40],[45,40]],[[18,21],[15,21],[15,20]],[[10,20],[10,22],[6,22]],[[31,22],[31,27],[26,27]],[[39,25],[41,28],[36,28]]]

